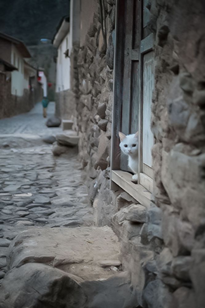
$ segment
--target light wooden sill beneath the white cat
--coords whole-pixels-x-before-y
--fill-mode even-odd
[[[132,182],[132,175],[129,172],[121,170],[111,171],[111,180],[123,188],[129,195],[137,200],[142,205],[149,207],[151,193],[140,184]]]

